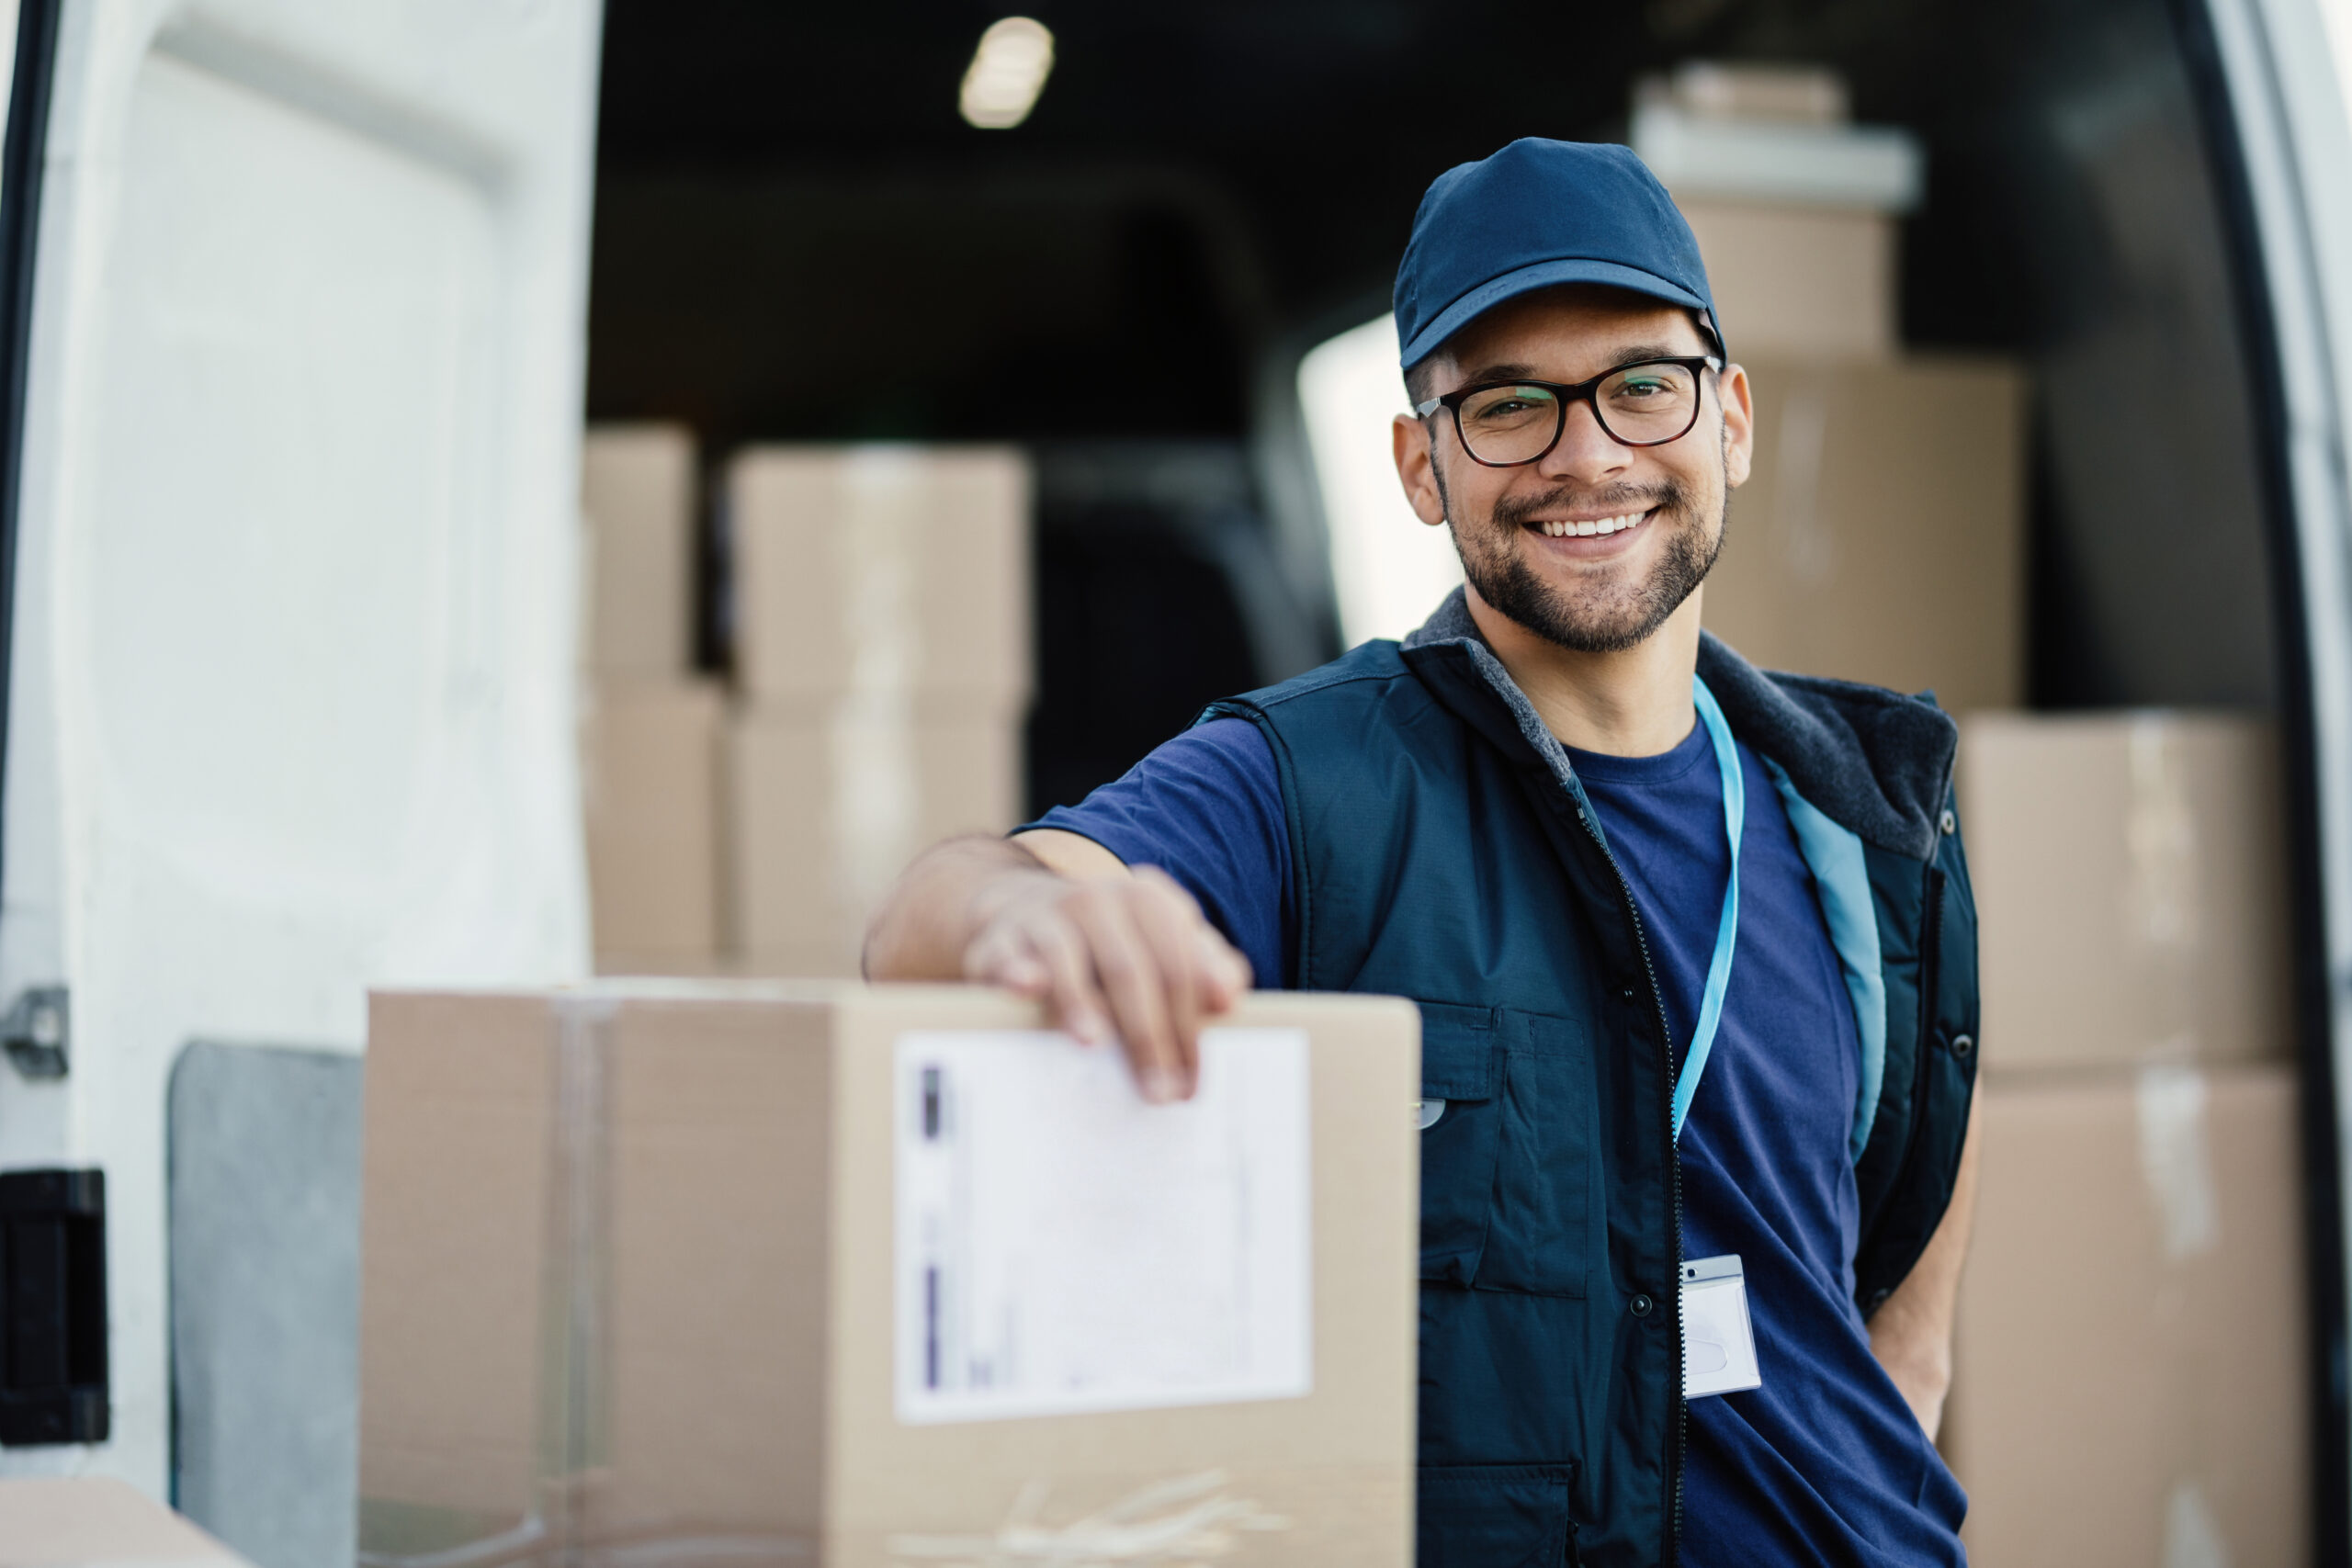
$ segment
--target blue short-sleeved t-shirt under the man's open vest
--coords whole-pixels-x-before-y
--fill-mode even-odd
[[[1780,795],[1757,757],[1738,750],[1748,785],[1740,936],[1715,1051],[1682,1128],[1682,1251],[1738,1253],[1764,1387],[1691,1401],[1682,1554],[1693,1568],[1964,1563],[1966,1497],[1870,1354],[1853,1305],[1853,1004]],[[1658,757],[1571,750],[1569,759],[1632,886],[1684,1046],[1731,870],[1708,731],[1693,724]],[[1084,804],[1033,825],[1164,867],[1261,985],[1291,980],[1282,783],[1249,722],[1185,731]]]

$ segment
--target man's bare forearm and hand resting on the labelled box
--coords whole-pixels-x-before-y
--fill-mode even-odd
[[[1117,1034],[1148,1100],[1190,1098],[1202,1018],[1249,990],[1249,964],[1174,877],[1054,827],[915,860],[866,931],[866,976],[1037,997],[1087,1044]]]

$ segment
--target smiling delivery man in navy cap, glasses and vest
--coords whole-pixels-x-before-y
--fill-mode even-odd
[[[1162,1100],[1251,980],[1421,1004],[1423,1568],[1962,1563],[1955,724],[1700,630],[1752,402],[1632,153],[1439,176],[1397,339],[1468,585],[934,849],[868,971],[1044,997]]]

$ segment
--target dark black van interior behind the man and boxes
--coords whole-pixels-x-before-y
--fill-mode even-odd
[[[1056,40],[1042,99],[976,129],[957,82],[990,7],[612,0],[588,334],[588,418],[677,421],[706,463],[748,442],[1033,454],[1030,811],[1117,778],[1204,703],[1341,651],[1298,367],[1388,310],[1430,179],[1515,136],[1623,139],[1644,78],[1705,59],[1825,66],[1853,122],[1924,148],[1903,348],[2002,355],[2030,388],[2025,705],[2277,715],[2288,865],[2312,865],[2277,371],[2201,9],[1033,14]],[[1733,501],[1729,550],[1738,531]],[[701,604],[699,661],[724,670],[715,501]],[[2291,886],[2307,1060],[2324,1051],[2312,877]],[[2336,1175],[2326,1138],[2307,1143],[2328,1354]],[[2324,1363],[2314,1519],[2336,1561],[2343,1373]]]

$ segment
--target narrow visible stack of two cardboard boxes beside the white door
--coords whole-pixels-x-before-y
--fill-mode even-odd
[[[677,425],[600,425],[581,449],[581,790],[604,973],[701,973],[720,954],[724,701],[694,675],[694,465]]]

